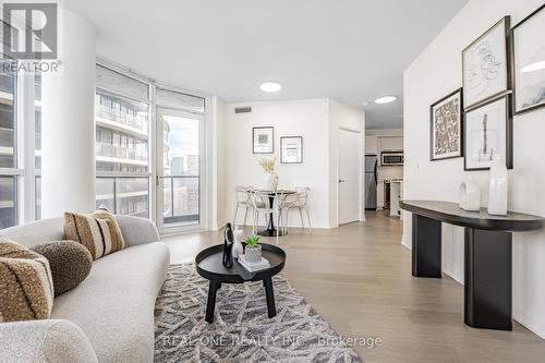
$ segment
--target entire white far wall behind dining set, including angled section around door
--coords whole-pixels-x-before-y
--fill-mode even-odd
[[[252,113],[234,113],[235,107],[251,106]],[[245,102],[226,105],[226,218],[234,214],[237,185],[265,184],[257,164],[262,157],[252,154],[252,128],[275,128],[275,155],[279,156],[280,136],[303,136],[303,164],[277,164],[280,189],[310,186],[310,213],[313,228],[338,226],[338,137],[339,128],[362,132],[362,110],[329,99]],[[362,149],[363,150],[363,132]],[[362,169],[363,170],[363,169]],[[363,201],[363,187],[362,198]],[[363,205],[362,205],[363,207]],[[238,221],[242,219],[239,214]],[[251,218],[247,220],[251,223]],[[263,223],[263,220],[262,220]],[[300,227],[292,214],[288,226]]]

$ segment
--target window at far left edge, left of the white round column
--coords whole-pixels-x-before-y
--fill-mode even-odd
[[[0,72],[0,229],[40,218],[41,148],[40,75],[2,62],[15,66]]]

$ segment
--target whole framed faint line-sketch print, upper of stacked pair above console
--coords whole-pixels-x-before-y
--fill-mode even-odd
[[[509,28],[505,16],[462,51],[465,110],[510,89]]]

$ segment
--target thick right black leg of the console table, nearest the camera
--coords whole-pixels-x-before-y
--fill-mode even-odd
[[[512,330],[512,235],[465,228],[465,324]]]

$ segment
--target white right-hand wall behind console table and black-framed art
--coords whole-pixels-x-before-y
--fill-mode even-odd
[[[431,162],[429,105],[461,86],[461,51],[504,15],[521,21],[543,0],[471,0],[404,72],[404,195],[457,202],[463,159]],[[545,216],[545,164],[542,148],[545,109],[513,120],[514,169],[509,171],[509,208]],[[473,171],[487,205],[487,171]],[[405,216],[403,244],[410,246]],[[443,267],[463,281],[463,231],[444,225]],[[545,231],[513,238],[513,317],[545,338]]]

